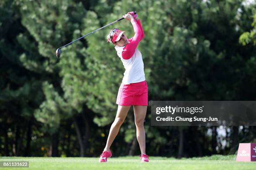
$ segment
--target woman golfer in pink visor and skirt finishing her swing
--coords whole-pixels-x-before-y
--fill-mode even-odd
[[[148,86],[145,79],[141,52],[136,49],[138,43],[144,37],[144,32],[136,14],[134,15],[133,12],[129,12],[123,15],[123,18],[131,21],[135,35],[127,39],[124,35],[125,31],[115,28],[110,31],[107,37],[108,42],[112,42],[115,45],[115,50],[123,62],[125,72],[116,99],[116,103],[118,104],[117,114],[111,125],[108,140],[100,155],[99,162],[107,162],[107,159],[112,156],[110,146],[118,134],[119,128],[124,122],[131,105],[133,105],[136,135],[141,149],[141,162],[148,162],[148,155],[146,155],[145,151],[146,142],[143,125],[148,106]]]

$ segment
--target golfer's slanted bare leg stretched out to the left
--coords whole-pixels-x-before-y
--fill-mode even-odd
[[[127,113],[130,107],[131,106],[118,105],[118,111],[116,113],[115,120],[111,125],[110,131],[108,134],[108,140],[104,150],[107,150],[107,151],[110,150],[110,146],[112,145],[116,135],[118,134],[120,126],[123,124],[123,121],[125,120],[125,117],[127,116]]]

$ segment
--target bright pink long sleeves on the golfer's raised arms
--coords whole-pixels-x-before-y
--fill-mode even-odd
[[[125,47],[123,48],[122,57],[125,60],[128,60],[133,56],[133,54],[136,50],[136,47],[138,46],[138,43],[144,37],[144,31],[143,31],[143,28],[141,25],[141,21],[131,19],[131,23],[133,25],[133,30],[135,32],[135,35],[128,39],[129,43],[127,45],[125,45]]]

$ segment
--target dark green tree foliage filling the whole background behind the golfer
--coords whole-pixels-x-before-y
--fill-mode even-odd
[[[1,0],[0,155],[101,153],[115,118],[124,71],[106,36],[119,28],[132,37],[132,25],[122,20],[95,32],[61,49],[60,59],[55,50],[133,10],[145,32],[138,49],[149,100],[255,100],[256,48],[239,43],[240,35],[250,30],[240,42],[253,42],[255,4],[244,5],[242,0]],[[225,127],[223,137],[218,135],[221,127],[151,127],[150,118],[148,107],[149,155],[233,154],[236,141],[255,140],[253,127]],[[134,140],[131,109],[113,143],[115,155],[139,155],[139,149],[129,152],[136,145]],[[181,145],[181,140],[186,143]]]

